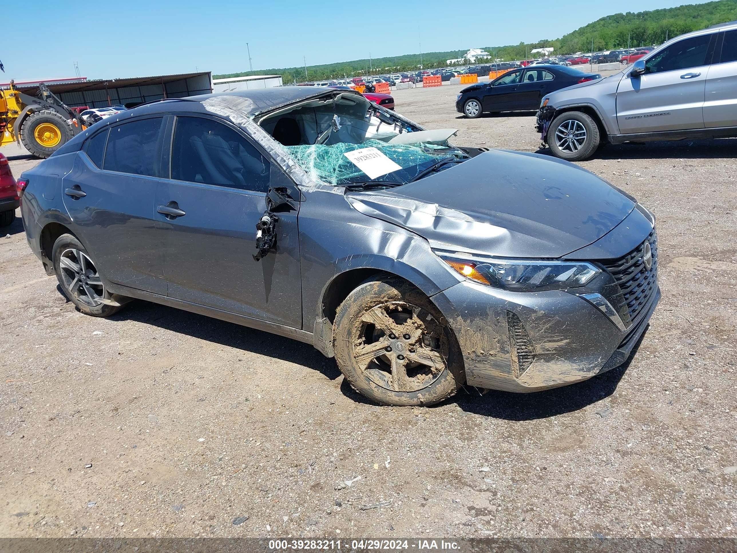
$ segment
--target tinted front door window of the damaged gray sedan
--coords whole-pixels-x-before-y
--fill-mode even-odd
[[[178,117],[172,145],[172,178],[268,192],[269,162],[251,142],[223,123]]]

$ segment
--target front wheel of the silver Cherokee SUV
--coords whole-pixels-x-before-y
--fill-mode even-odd
[[[567,111],[551,123],[548,130],[548,146],[559,158],[567,161],[589,159],[598,148],[599,136],[596,122],[581,111]]]

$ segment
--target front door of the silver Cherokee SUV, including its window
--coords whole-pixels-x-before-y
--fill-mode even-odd
[[[621,134],[704,128],[704,96],[716,36],[684,38],[645,62],[645,73],[626,73],[617,89]]]

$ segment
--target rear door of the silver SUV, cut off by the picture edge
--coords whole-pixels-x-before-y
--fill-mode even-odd
[[[717,41],[706,75],[704,125],[737,127],[737,30],[722,32]]]

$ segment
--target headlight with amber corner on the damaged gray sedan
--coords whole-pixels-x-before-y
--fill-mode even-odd
[[[601,273],[587,262],[499,260],[450,251],[435,253],[467,279],[514,292],[579,288]]]

